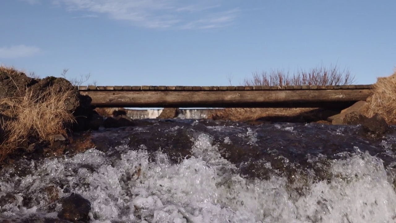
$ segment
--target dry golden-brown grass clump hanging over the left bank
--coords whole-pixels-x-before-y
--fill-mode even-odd
[[[24,91],[23,96],[0,100],[0,161],[17,148],[26,148],[32,141],[51,141],[51,136],[57,134],[67,136],[67,128],[74,121],[64,103],[69,92],[57,94],[49,88],[36,97],[31,90]]]

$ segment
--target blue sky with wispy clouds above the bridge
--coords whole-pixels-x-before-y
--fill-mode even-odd
[[[396,66],[394,0],[2,0],[0,63],[97,85],[239,85],[253,71]]]

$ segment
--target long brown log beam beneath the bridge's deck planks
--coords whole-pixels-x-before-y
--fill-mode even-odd
[[[366,100],[370,89],[81,91],[97,107],[342,108]]]

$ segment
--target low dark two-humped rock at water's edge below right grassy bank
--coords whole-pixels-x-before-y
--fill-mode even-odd
[[[389,126],[385,119],[379,114],[375,114],[373,117],[368,118],[358,112],[350,112],[345,115],[344,124],[347,125],[359,125],[361,124],[366,131],[374,134],[384,134],[388,131]]]

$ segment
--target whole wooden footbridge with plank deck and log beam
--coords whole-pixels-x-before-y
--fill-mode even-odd
[[[97,107],[346,108],[366,100],[371,85],[79,86]]]

